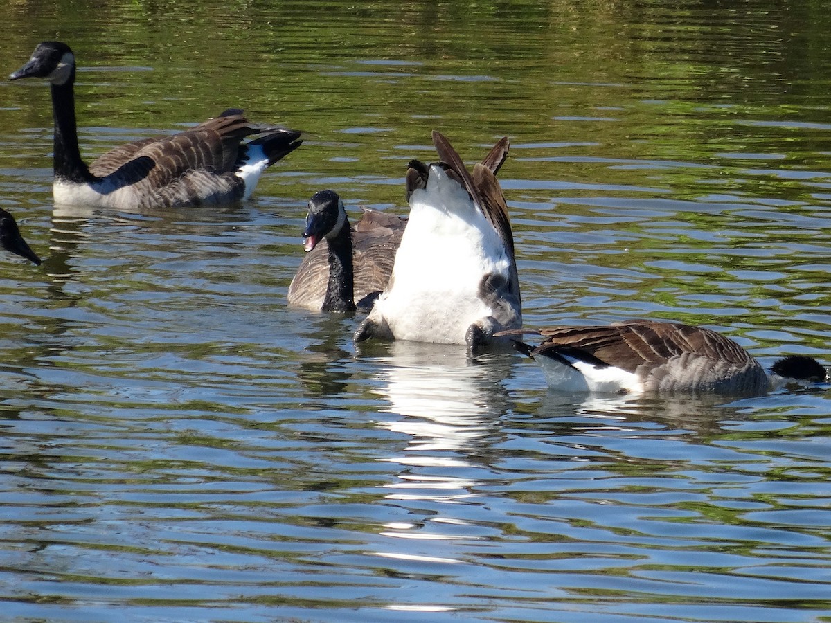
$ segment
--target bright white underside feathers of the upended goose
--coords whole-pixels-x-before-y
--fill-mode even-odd
[[[465,189],[435,164],[410,207],[392,287],[373,313],[384,316],[396,339],[464,344],[468,327],[492,314],[479,299],[482,277],[508,278],[504,243]]]

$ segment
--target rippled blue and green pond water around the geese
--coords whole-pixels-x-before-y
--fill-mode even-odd
[[[430,130],[509,135],[526,325],[831,364],[821,3],[265,4],[8,11],[7,72],[76,49],[88,155],[229,105],[308,134],[246,204],[56,208],[47,90],[0,84],[0,205],[45,259],[2,258],[0,618],[831,620],[827,386],[558,395],[285,304],[313,192],[404,213]]]

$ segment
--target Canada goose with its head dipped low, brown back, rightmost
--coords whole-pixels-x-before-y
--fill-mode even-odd
[[[521,341],[516,345],[542,367],[548,385],[562,391],[759,395],[788,380],[822,381],[827,376],[807,356],[785,357],[766,371],[730,338],[674,322],[632,320],[504,332],[522,333],[545,337],[536,347]]]

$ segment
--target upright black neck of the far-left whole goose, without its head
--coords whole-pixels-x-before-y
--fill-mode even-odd
[[[83,184],[95,178],[81,159],[75,121],[75,70],[63,85],[52,85],[52,116],[55,119],[55,146],[52,164],[55,178]]]

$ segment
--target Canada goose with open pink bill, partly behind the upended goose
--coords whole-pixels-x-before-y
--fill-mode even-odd
[[[306,257],[288,287],[288,303],[322,312],[372,306],[386,287],[406,219],[365,209],[352,228],[341,198],[321,190],[308,202]]]

